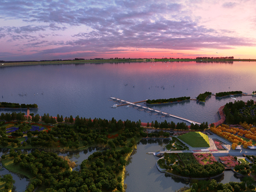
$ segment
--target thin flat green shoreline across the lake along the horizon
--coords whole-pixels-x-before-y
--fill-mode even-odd
[[[232,62],[232,61],[253,61],[256,59],[105,59],[105,60],[68,60],[68,61],[26,61],[26,62],[3,62],[6,66],[31,66],[31,65],[60,65],[60,64],[85,64],[85,63],[118,63],[118,62],[159,62],[159,61],[197,61],[197,62]]]

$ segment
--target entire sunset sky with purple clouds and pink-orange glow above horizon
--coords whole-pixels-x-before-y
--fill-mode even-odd
[[[0,0],[0,60],[256,59],[254,0]]]

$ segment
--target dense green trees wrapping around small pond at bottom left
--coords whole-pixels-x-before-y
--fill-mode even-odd
[[[10,150],[14,164],[29,170],[35,177],[26,192],[33,191],[37,186],[44,185],[50,191],[123,191],[122,178],[118,176],[126,165],[125,155],[131,148],[121,150],[104,150],[91,154],[81,164],[81,170],[70,171],[67,161],[55,153],[35,150],[30,154]]]

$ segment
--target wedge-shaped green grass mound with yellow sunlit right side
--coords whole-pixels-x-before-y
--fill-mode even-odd
[[[178,139],[186,142],[191,147],[210,147],[208,136],[201,132],[189,132],[180,135]]]

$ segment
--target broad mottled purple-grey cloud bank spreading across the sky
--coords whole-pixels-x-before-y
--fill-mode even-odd
[[[195,1],[187,1],[189,5],[165,0],[146,3],[143,0],[1,1],[1,17],[11,23],[22,22],[1,26],[0,39],[19,44],[18,51],[36,47],[33,57],[53,53],[70,53],[73,57],[74,52],[81,50],[83,53],[79,54],[125,52],[132,47],[199,50],[255,46],[252,37],[240,36],[235,30],[199,24],[200,18],[190,14],[191,2]],[[202,2],[196,1],[196,6]],[[236,5],[226,2],[222,7]],[[15,47],[14,43],[12,46]]]

